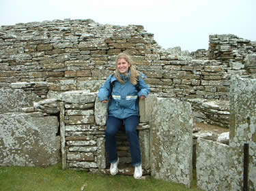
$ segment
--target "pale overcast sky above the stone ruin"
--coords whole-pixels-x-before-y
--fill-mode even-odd
[[[0,26],[92,19],[143,25],[162,48],[208,49],[209,35],[256,41],[256,0],[0,0]]]

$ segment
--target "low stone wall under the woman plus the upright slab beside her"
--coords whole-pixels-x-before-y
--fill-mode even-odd
[[[63,101],[61,118],[64,119],[61,124],[63,168],[109,174],[104,144],[106,118],[102,120],[102,116],[107,115],[107,103],[100,103],[96,93],[85,91],[64,92],[60,100]],[[190,187],[193,169],[190,104],[150,95],[140,103],[140,112],[142,118],[137,131],[143,175],[151,174]],[[119,173],[132,175],[134,168],[124,130],[117,134],[117,153]]]

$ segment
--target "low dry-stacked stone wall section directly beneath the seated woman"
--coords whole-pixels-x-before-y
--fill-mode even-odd
[[[63,168],[80,169],[109,174],[109,160],[105,149],[107,103],[100,103],[96,93],[86,91],[64,92],[61,114],[61,145]],[[103,117],[103,118],[102,118]],[[143,173],[150,173],[149,125],[141,122],[137,128],[141,143]],[[119,173],[132,175],[130,147],[124,130],[117,134]],[[146,156],[145,156],[146,155]]]

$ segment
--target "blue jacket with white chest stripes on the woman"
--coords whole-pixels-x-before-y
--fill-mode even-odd
[[[139,89],[137,85],[130,82],[130,72],[128,75],[120,75],[124,84],[121,84],[115,75],[110,75],[98,92],[100,101],[109,100],[109,116],[119,119],[126,119],[130,116],[139,116],[139,97],[147,97],[150,87],[143,80],[146,76],[140,73]],[[112,84],[112,85],[111,85]],[[111,90],[111,88],[113,90]],[[109,99],[111,97],[111,99]]]

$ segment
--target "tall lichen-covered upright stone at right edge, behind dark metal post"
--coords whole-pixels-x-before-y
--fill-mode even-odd
[[[248,190],[256,190],[256,79],[231,77],[231,190],[243,190],[244,143],[249,145]]]

